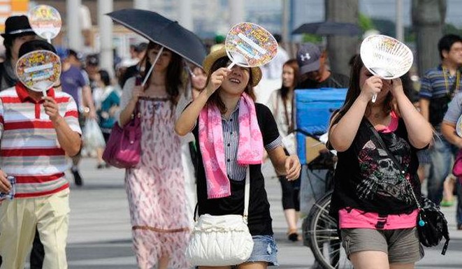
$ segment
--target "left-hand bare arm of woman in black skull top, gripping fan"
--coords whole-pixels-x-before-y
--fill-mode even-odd
[[[338,152],[344,152],[352,145],[356,132],[359,129],[359,124],[364,117],[366,107],[374,94],[377,94],[382,89],[382,80],[377,77],[370,77],[364,82],[361,87],[356,101],[338,123],[332,126],[329,133],[329,143]]]

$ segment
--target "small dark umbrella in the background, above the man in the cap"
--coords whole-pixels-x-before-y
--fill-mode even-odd
[[[302,24],[292,34],[317,34],[319,36],[356,36],[361,29],[347,22],[312,22]]]

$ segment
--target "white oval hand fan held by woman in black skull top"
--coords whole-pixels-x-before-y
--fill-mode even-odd
[[[410,48],[395,38],[383,35],[368,36],[361,43],[360,53],[364,66],[384,80],[399,78],[409,71],[414,61]],[[375,102],[377,94],[373,96]]]

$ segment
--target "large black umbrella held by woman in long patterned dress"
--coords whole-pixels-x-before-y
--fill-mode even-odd
[[[131,29],[140,36],[180,54],[197,66],[202,66],[205,46],[192,31],[178,22],[148,10],[122,9],[106,14],[115,22]]]

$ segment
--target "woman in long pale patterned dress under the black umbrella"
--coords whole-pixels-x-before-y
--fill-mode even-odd
[[[124,85],[119,124],[128,124],[138,106],[142,131],[140,163],[127,169],[125,186],[138,267],[185,269],[190,223],[180,138],[173,131],[183,63],[178,54],[161,49],[155,43],[147,46],[146,71],[160,56],[144,87],[136,85],[138,78]]]

